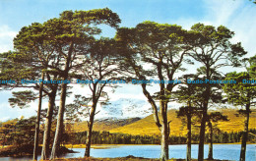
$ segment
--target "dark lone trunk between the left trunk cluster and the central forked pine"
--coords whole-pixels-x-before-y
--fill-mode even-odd
[[[95,115],[96,115],[96,102],[94,102],[94,104],[92,106],[92,109],[91,109],[90,120],[89,120],[89,125],[88,125],[87,140],[86,140],[85,157],[90,157],[90,150],[91,150],[91,142],[92,142],[92,134],[93,134]]]

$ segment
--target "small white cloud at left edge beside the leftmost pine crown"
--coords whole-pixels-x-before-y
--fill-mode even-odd
[[[13,38],[17,32],[8,26],[0,26],[0,52],[7,52],[13,49]]]

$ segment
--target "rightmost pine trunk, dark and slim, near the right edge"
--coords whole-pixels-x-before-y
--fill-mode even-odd
[[[247,137],[248,137],[249,117],[250,117],[250,104],[246,104],[246,116],[245,116],[245,120],[244,120],[244,132],[242,134],[240,161],[245,161],[246,141],[247,141]]]

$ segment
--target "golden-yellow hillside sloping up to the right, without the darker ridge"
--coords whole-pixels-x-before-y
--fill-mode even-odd
[[[237,110],[235,109],[222,109],[221,112],[224,115],[227,115],[229,121],[228,122],[220,122],[218,123],[218,127],[227,133],[230,132],[239,132],[243,130],[243,120],[244,117],[239,115],[238,117]],[[171,120],[170,123],[170,134],[171,135],[185,135],[186,127],[182,126],[180,119],[176,118],[175,114],[176,110],[168,111],[168,119]],[[256,112],[251,113],[249,129],[256,128]],[[199,128],[193,127],[193,134],[199,133]],[[159,129],[157,128],[153,115],[150,115],[142,120],[139,120],[133,124],[126,125],[124,127],[115,128],[109,131],[110,133],[121,133],[121,134],[160,134]]]

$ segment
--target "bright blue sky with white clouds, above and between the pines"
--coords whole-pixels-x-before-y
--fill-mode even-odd
[[[21,27],[34,22],[43,23],[58,17],[65,10],[91,10],[109,8],[122,20],[121,27],[135,27],[144,21],[162,24],[177,24],[189,28],[196,23],[230,28],[235,32],[232,41],[241,41],[248,56],[253,56],[256,37],[256,5],[249,0],[0,0],[0,52],[12,50],[12,40]],[[114,30],[106,29],[104,34],[114,35]],[[81,88],[76,86],[75,88]],[[134,91],[137,91],[136,95]],[[0,120],[35,115],[36,102],[25,110],[12,109],[8,105],[10,91],[0,92]],[[147,102],[139,86],[124,85],[111,94],[112,101],[136,98],[137,102]],[[141,100],[141,101],[140,101]],[[71,99],[69,101],[72,101]],[[124,101],[124,103],[127,101]],[[44,102],[46,106],[46,102]],[[125,105],[121,106],[125,109]],[[101,116],[107,116],[102,109]],[[138,110],[140,111],[140,110]],[[136,116],[138,111],[128,114]],[[142,115],[142,114],[140,114]]]

